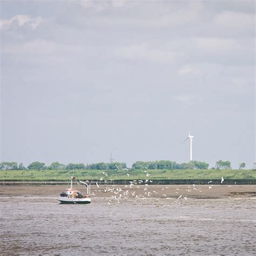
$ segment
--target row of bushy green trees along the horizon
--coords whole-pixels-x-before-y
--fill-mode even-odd
[[[256,165],[256,163],[254,163]],[[178,164],[176,161],[171,160],[156,160],[156,161],[136,161],[132,164],[131,169],[169,169],[169,170],[184,170],[184,169],[208,169],[209,164],[204,161],[190,161],[188,163]],[[245,163],[239,165],[239,169],[245,168]],[[0,163],[0,170],[122,170],[127,169],[126,163],[95,163],[95,164],[73,164],[68,165],[53,162],[49,166],[45,163],[35,161],[25,167],[22,163],[3,161]],[[230,161],[219,160],[216,162],[215,167],[211,169],[231,169]]]

